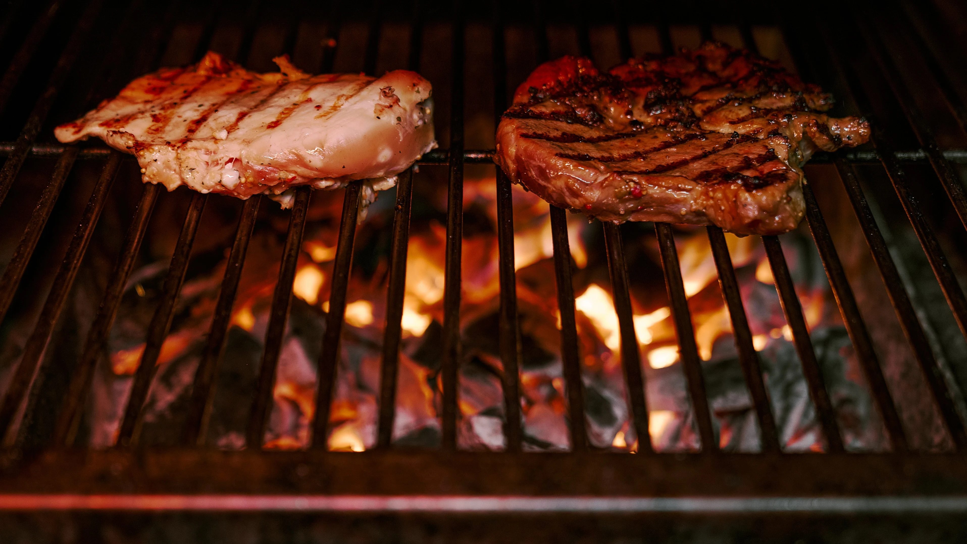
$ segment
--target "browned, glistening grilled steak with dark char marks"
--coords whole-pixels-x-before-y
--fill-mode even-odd
[[[496,163],[548,202],[603,221],[796,227],[817,149],[864,143],[858,117],[746,50],[706,43],[603,74],[587,58],[543,64],[497,129]]]

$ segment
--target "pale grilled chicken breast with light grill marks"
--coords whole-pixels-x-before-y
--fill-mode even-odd
[[[309,76],[288,57],[275,61],[280,73],[256,74],[209,52],[196,65],[138,77],[55,136],[98,136],[168,191],[187,185],[240,198],[366,179],[371,200],[436,147],[422,76]]]

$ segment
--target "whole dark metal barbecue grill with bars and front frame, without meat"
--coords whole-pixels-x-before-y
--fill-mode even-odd
[[[687,2],[662,9],[625,2],[602,3],[593,9],[544,2],[523,6],[309,4],[296,2],[281,8],[253,0],[244,7],[233,7],[213,0],[199,7],[187,2],[162,6],[141,1],[53,0],[43,6],[15,1],[6,7],[0,23],[0,44],[4,45],[0,50],[8,51],[0,53],[5,70],[0,78],[0,132],[8,142],[0,144],[0,153],[6,156],[0,170],[0,203],[8,201],[0,208],[0,216],[6,216],[2,224],[8,232],[3,235],[7,241],[0,253],[5,261],[0,279],[0,323],[4,327],[0,335],[5,335],[3,342],[17,354],[15,365],[7,371],[9,378],[0,401],[0,436],[5,440],[0,450],[0,510],[5,512],[0,515],[0,531],[18,534],[25,542],[72,538],[66,536],[70,531],[48,533],[44,528],[51,521],[57,527],[73,528],[77,534],[111,526],[118,534],[139,541],[161,539],[159,535],[165,529],[158,528],[180,528],[179,534],[186,535],[218,534],[220,538],[247,531],[263,531],[276,535],[267,538],[279,540],[317,534],[333,541],[555,538],[617,542],[656,538],[697,542],[712,538],[710,535],[729,535],[805,542],[903,534],[910,541],[923,542],[965,536],[967,430],[960,387],[967,383],[958,377],[967,374],[967,362],[958,360],[959,352],[947,345],[945,339],[950,335],[937,330],[937,301],[926,300],[928,297],[918,290],[923,281],[933,280],[918,274],[917,270],[923,272],[923,268],[898,259],[918,251],[916,244],[904,245],[904,239],[894,234],[908,228],[905,221],[909,221],[935,277],[936,284],[931,285],[934,290],[939,285],[938,292],[942,292],[956,323],[954,337],[967,335],[961,260],[967,258],[963,251],[967,247],[963,245],[967,198],[959,173],[967,162],[967,151],[957,148],[967,137],[962,132],[967,129],[967,87],[962,84],[964,75],[959,68],[963,55],[956,40],[957,33],[967,26],[959,25],[963,22],[957,18],[963,15],[960,8],[944,2],[859,3],[808,15],[794,14],[791,7],[775,3],[712,7]],[[206,443],[205,437],[243,264],[259,214],[265,214],[265,209],[274,204],[260,196],[226,204],[222,200],[228,199],[220,196],[185,196],[184,192],[162,195],[158,185],[140,185],[130,157],[100,142],[67,146],[51,143],[51,128],[112,96],[133,76],[159,67],[167,50],[184,44],[190,44],[184,46],[193,49],[195,60],[209,48],[222,48],[226,56],[249,66],[256,56],[270,58],[288,52],[298,60],[300,51],[312,49],[315,52],[306,53],[307,58],[319,63],[312,68],[329,72],[334,70],[339,49],[344,46],[346,29],[362,28],[366,33],[365,47],[360,51],[362,68],[372,74],[382,66],[381,36],[390,23],[409,30],[408,65],[398,68],[426,70],[426,59],[439,63],[439,57],[443,57],[440,71],[449,74],[449,81],[429,76],[436,86],[437,100],[446,105],[437,114],[438,140],[443,149],[426,154],[418,166],[401,174],[396,188],[375,446],[362,453],[329,451],[327,447],[361,197],[360,186],[350,184],[341,208],[308,448],[270,451],[262,447],[300,248],[311,223],[310,198],[316,197],[308,188],[300,188],[291,211],[276,214],[287,215],[288,219],[278,282],[250,407],[238,408],[249,410],[244,437],[247,447],[238,451],[217,449]],[[819,204],[824,202],[829,213],[828,199],[814,194],[812,184],[807,183],[807,226],[882,421],[889,443],[886,451],[848,451],[782,243],[776,236],[763,236],[782,311],[822,431],[821,453],[783,452],[760,356],[747,322],[749,302],[744,305],[742,300],[725,235],[718,227],[708,227],[761,449],[758,453],[720,451],[702,358],[694,340],[676,231],[664,224],[654,226],[654,235],[700,449],[662,453],[655,451],[648,439],[639,440],[633,454],[595,447],[586,429],[568,217],[566,210],[555,207],[550,208],[553,281],[560,312],[570,448],[553,453],[525,451],[517,378],[522,350],[513,260],[513,191],[510,180],[498,169],[495,236],[499,245],[499,359],[504,371],[506,447],[501,451],[458,448],[464,170],[470,165],[491,165],[492,156],[488,149],[467,149],[464,140],[465,78],[468,68],[478,70],[468,65],[465,30],[470,26],[489,33],[495,116],[506,109],[509,93],[517,83],[508,76],[505,32],[509,28],[523,32],[537,61],[547,60],[557,51],[558,46],[549,39],[549,28],[569,29],[564,36],[573,43],[566,48],[589,56],[607,46],[593,40],[601,36],[596,34],[597,29],[603,28],[604,35],[613,38],[619,58],[643,52],[633,39],[638,28],[653,29],[660,49],[665,51],[691,37],[722,39],[729,29],[738,32],[741,45],[756,49],[766,40],[766,31],[780,31],[780,43],[799,74],[806,81],[824,84],[846,109],[855,108],[865,115],[873,128],[869,149],[820,154],[813,163],[825,163],[816,168],[827,168],[831,174],[827,177],[841,182],[841,190],[836,191],[848,196],[845,209],[851,208],[855,218],[847,219],[858,222],[882,275],[908,345],[905,349],[918,365],[916,370],[922,376],[918,379],[925,382],[926,394],[919,401],[935,414],[942,427],[942,444],[923,451],[910,439],[918,430],[904,428],[899,402],[894,399],[905,401],[915,396],[897,393],[896,384],[888,387],[881,359],[889,347],[878,345],[875,330],[867,329],[862,305],[854,294],[854,288],[865,287],[857,286],[855,279],[851,285],[851,271],[840,261],[834,244],[836,229],[847,224],[839,221],[842,214],[838,214],[836,226],[827,225]],[[274,34],[266,32],[267,27],[275,29]],[[450,50],[427,51],[427,29],[449,33]],[[911,66],[916,72],[911,72]],[[923,96],[928,97],[926,102]],[[951,127],[933,126],[931,119],[936,112],[923,110],[923,104],[946,108],[946,115],[956,125],[952,127],[955,136],[945,136]],[[407,448],[394,443],[407,243],[417,177],[414,171],[419,167],[445,167],[449,181],[439,373],[441,436],[435,448]],[[879,185],[871,190],[874,184]],[[883,191],[886,184],[893,187],[906,220],[881,212],[888,208],[879,200],[894,197]],[[181,198],[179,203],[188,200],[187,211],[178,212],[185,214],[183,226],[170,252],[160,303],[147,326],[145,347],[132,379],[116,445],[89,448],[77,436],[83,432],[84,407],[96,367],[142,253],[153,210],[176,196]],[[73,332],[82,335],[83,348],[76,353],[59,349],[56,341],[75,326],[67,310],[78,271],[85,257],[93,258],[86,254],[95,229],[99,220],[113,222],[109,225],[119,223],[118,218],[102,216],[105,209],[117,209],[108,205],[112,199],[125,198],[136,200],[136,207],[130,222],[121,222],[128,227],[123,237],[117,238],[116,254],[101,257],[113,262],[113,268],[100,279],[99,303],[90,316],[92,324],[89,330]],[[144,407],[192,265],[192,248],[206,235],[199,228],[206,203],[211,210],[216,199],[222,207],[241,210],[236,212],[239,219],[234,241],[226,251],[204,353],[193,375],[189,398],[180,408],[184,425],[179,445],[155,446],[142,433]],[[21,213],[20,208],[29,213]],[[79,219],[69,223],[73,220],[65,217]],[[603,230],[630,425],[635,436],[647,438],[647,377],[642,372],[635,337],[629,287],[632,271],[625,257],[629,230],[627,226],[597,223],[592,228]],[[923,261],[923,256],[917,258]],[[879,326],[879,321],[874,325]],[[12,331],[21,329],[27,331],[25,336],[15,338]],[[954,338],[952,345],[958,342],[962,339]],[[207,532],[199,532],[203,530]]]

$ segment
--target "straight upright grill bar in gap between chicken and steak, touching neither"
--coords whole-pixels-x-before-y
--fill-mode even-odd
[[[454,7],[459,11],[459,7]],[[450,184],[447,189],[447,257],[443,294],[443,447],[456,448],[457,378],[460,361],[460,256],[463,241],[463,62],[462,14],[454,14],[451,63]]]

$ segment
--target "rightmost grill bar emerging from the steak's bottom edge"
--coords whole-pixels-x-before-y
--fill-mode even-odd
[[[812,399],[813,407],[816,408],[819,424],[826,436],[827,447],[832,453],[840,453],[843,451],[843,443],[839,435],[835,409],[826,390],[822,370],[819,368],[818,361],[816,361],[816,352],[813,350],[812,341],[809,339],[806,318],[803,317],[803,307],[796,295],[796,287],[793,285],[789,267],[786,265],[785,256],[782,254],[782,246],[775,235],[763,236],[762,244],[766,247],[766,255],[769,257],[773,277],[776,279],[776,289],[779,293],[782,313],[785,314],[786,322],[792,329],[793,344],[796,346],[800,363],[803,365],[803,375],[809,385],[809,397]]]

